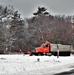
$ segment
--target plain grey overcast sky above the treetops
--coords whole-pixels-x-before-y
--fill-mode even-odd
[[[74,0],[0,0],[0,4],[13,5],[23,17],[31,17],[38,6],[44,6],[51,14],[74,14]]]

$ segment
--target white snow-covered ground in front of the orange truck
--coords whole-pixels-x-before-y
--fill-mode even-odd
[[[38,61],[39,59],[39,61]],[[69,71],[74,56],[0,55],[0,75],[53,75]]]

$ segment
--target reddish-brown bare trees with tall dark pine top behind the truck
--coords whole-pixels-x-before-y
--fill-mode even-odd
[[[45,7],[38,7],[37,12],[33,14],[35,16],[29,19],[28,24],[33,37],[31,39],[37,41],[36,46],[45,40],[51,43],[74,45],[74,28],[72,28],[74,24],[71,22],[71,16],[53,16],[46,11]],[[32,44],[35,41],[32,41]]]

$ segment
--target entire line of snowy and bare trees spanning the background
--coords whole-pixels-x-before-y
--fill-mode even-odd
[[[45,7],[22,19],[13,6],[0,5],[0,53],[34,50],[46,40],[74,46],[73,20],[74,16],[53,16]]]

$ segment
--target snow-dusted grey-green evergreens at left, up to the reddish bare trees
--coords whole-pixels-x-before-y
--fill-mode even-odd
[[[0,11],[0,53],[22,51],[24,20],[13,6],[0,6]]]

